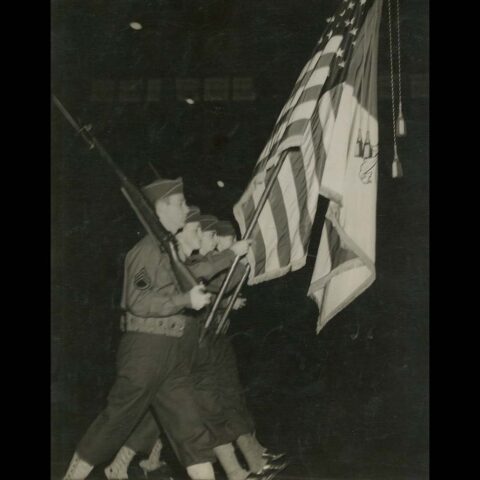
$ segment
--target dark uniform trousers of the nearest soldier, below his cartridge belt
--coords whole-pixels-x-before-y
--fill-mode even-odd
[[[107,406],[81,439],[80,457],[93,465],[109,461],[136,428],[152,431],[154,418],[145,415],[152,408],[185,467],[215,460],[216,439],[197,408],[191,375],[198,331],[197,321],[188,319],[182,337],[123,335]]]

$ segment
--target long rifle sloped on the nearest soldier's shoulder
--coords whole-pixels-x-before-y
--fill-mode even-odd
[[[198,285],[196,278],[187,268],[187,266],[180,260],[176,249],[176,240],[172,233],[165,229],[160,223],[150,202],[145,198],[141,190],[139,190],[122,172],[118,165],[113,161],[112,157],[107,153],[102,144],[90,133],[91,126],[80,127],[74,118],[70,115],[67,109],[62,105],[60,100],[53,95],[53,102],[60,110],[67,121],[72,125],[75,131],[85,140],[90,150],[96,148],[98,153],[107,161],[112,167],[121,183],[121,191],[126,197],[128,203],[137,215],[138,219],[145,227],[145,230],[150,235],[155,244],[162,251],[165,251],[170,259],[173,273],[177,280],[179,289],[186,293],[194,286]]]

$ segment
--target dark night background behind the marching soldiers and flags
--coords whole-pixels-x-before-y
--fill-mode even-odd
[[[231,218],[336,5],[52,0],[52,92],[93,125],[137,184],[154,178],[150,162],[164,176],[184,178],[189,202]],[[317,308],[306,292],[321,202],[312,261],[246,288],[248,306],[232,317],[258,436],[293,461],[281,478],[428,475],[428,2],[404,0],[400,8],[405,176],[390,173],[385,0],[375,283],[315,334]],[[134,20],[142,30],[129,28]],[[209,91],[210,78],[225,81]],[[248,79],[244,90],[236,78]],[[53,107],[51,121],[51,446],[59,477],[113,381],[123,258],[143,229],[104,160]]]

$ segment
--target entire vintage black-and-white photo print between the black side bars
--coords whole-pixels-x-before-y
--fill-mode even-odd
[[[50,478],[429,478],[429,2],[50,7]]]

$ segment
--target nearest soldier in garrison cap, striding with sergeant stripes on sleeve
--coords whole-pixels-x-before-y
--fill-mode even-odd
[[[157,180],[143,192],[168,231],[183,228],[188,208],[181,179]],[[202,285],[178,290],[168,255],[149,236],[128,252],[117,376],[105,410],[77,446],[66,480],[85,479],[94,465],[113,457],[150,406],[190,478],[214,479],[213,438],[198,414],[190,376],[198,328],[188,314],[210,300]]]

